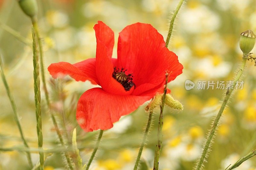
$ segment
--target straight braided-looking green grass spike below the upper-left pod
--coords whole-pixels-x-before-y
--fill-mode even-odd
[[[39,76],[39,56],[38,56],[38,46],[37,38],[32,27],[32,37],[33,37],[33,66],[34,66],[34,92],[35,92],[35,105],[36,105],[36,131],[38,137],[38,147],[43,147],[43,134],[42,134],[42,117],[41,117],[41,92],[40,92],[40,76]],[[40,170],[44,169],[44,153],[39,153],[40,157]]]

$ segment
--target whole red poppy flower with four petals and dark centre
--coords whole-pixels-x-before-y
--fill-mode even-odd
[[[86,132],[112,128],[121,116],[163,90],[166,70],[170,82],[183,69],[177,55],[165,47],[163,36],[149,24],[132,24],[119,33],[117,59],[111,58],[114,32],[101,21],[93,28],[96,58],[48,67],[53,78],[69,75],[76,81],[89,80],[101,86],[84,92],[77,103],[76,119]]]

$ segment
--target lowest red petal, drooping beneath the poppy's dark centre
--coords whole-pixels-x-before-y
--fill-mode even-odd
[[[84,92],[77,103],[76,119],[86,132],[110,129],[121,116],[137,109],[151,96],[115,95],[102,88]]]

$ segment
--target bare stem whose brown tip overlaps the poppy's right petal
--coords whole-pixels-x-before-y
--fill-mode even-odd
[[[163,135],[162,135],[162,129],[164,125],[163,121],[163,111],[164,111],[164,100],[167,92],[167,83],[168,83],[168,76],[169,74],[165,74],[165,87],[164,87],[164,94],[163,94],[163,99],[162,99],[162,104],[160,106],[161,111],[159,115],[159,122],[158,122],[158,131],[157,131],[157,144],[156,144],[156,150],[155,150],[155,158],[154,158],[154,167],[153,170],[158,170],[158,165],[159,165],[159,157],[160,157],[160,152],[161,152],[161,146],[163,142]]]

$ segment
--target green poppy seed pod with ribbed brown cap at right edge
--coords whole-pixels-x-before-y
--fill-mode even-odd
[[[241,33],[239,45],[244,54],[249,54],[252,51],[255,40],[256,35],[252,32],[252,30],[247,30]]]

